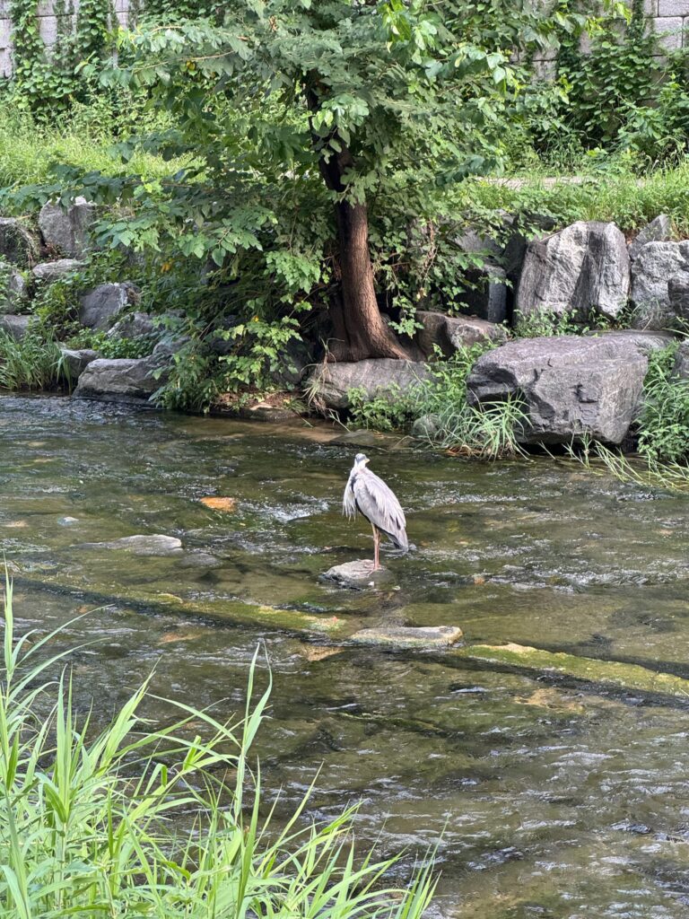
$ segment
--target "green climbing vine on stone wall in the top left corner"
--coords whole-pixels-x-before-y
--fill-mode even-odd
[[[102,59],[113,46],[115,19],[112,0],[81,0],[76,13],[72,0],[59,0],[53,7],[56,40],[49,46],[40,35],[38,6],[39,0],[10,0],[12,82],[20,103],[47,113],[89,92],[82,67]]]

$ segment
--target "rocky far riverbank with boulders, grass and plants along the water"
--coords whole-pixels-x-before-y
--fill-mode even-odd
[[[228,317],[199,339],[184,312],[150,312],[136,267],[107,279],[95,221],[85,199],[44,205],[38,231],[2,221],[1,386],[183,409],[201,398],[274,421],[315,412],[480,459],[601,444],[657,464],[689,451],[689,243],[668,215],[631,240],[599,221],[530,236],[504,216],[498,237],[457,239],[474,257],[464,312],[411,312],[409,359],[333,361],[327,343],[290,326],[261,358],[264,385],[235,380],[233,391],[219,373],[251,360],[244,325]]]

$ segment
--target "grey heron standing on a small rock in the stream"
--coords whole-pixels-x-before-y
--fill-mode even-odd
[[[378,571],[380,534],[385,533],[398,549],[406,552],[409,550],[407,521],[395,494],[375,472],[367,469],[367,462],[364,453],[356,454],[344,489],[342,512],[350,519],[356,517],[356,511],[367,518],[373,528],[373,570]]]

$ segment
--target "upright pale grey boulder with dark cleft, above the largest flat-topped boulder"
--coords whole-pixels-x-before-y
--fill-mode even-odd
[[[528,244],[516,310],[523,316],[546,311],[586,316],[594,308],[614,318],[628,293],[623,233],[615,223],[577,221]]]

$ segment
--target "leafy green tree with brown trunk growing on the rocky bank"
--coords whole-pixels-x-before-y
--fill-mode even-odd
[[[63,169],[42,194],[133,205],[103,240],[209,266],[204,322],[232,314],[223,334],[248,336],[254,354],[317,307],[333,357],[404,357],[393,330],[432,282],[452,188],[499,168],[531,51],[584,24],[538,7],[232,0],[149,19],[122,34],[100,81],[168,113],[119,152],[162,152],[175,171],[147,183]]]

